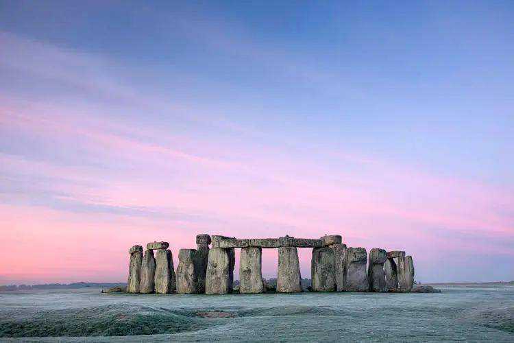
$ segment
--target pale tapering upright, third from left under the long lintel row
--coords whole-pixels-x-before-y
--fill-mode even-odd
[[[277,292],[302,292],[298,250],[295,247],[278,248]]]

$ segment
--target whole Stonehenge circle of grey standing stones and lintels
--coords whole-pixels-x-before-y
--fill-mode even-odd
[[[414,287],[412,256],[401,250],[387,252],[348,247],[341,235],[319,239],[290,237],[236,239],[221,235],[196,235],[196,249],[180,249],[176,272],[166,241],[130,248],[127,293],[230,294],[234,291],[236,249],[240,285],[235,292],[304,292],[298,248],[311,248],[310,292],[411,292]],[[275,284],[262,278],[262,249],[278,250]],[[155,251],[154,251],[155,250]]]

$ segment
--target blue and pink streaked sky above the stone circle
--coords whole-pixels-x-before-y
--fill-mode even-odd
[[[200,233],[341,235],[405,250],[423,283],[514,280],[513,16],[0,0],[0,284],[126,282],[131,246],[168,241],[176,268]]]

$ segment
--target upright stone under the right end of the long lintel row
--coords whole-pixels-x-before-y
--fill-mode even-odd
[[[336,265],[334,250],[314,248],[310,265],[311,287],[315,292],[334,292],[336,290]]]

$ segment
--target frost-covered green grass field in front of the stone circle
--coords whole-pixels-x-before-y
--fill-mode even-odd
[[[4,293],[0,341],[514,342],[514,287],[440,288],[440,294]],[[196,316],[213,310],[238,316]]]

